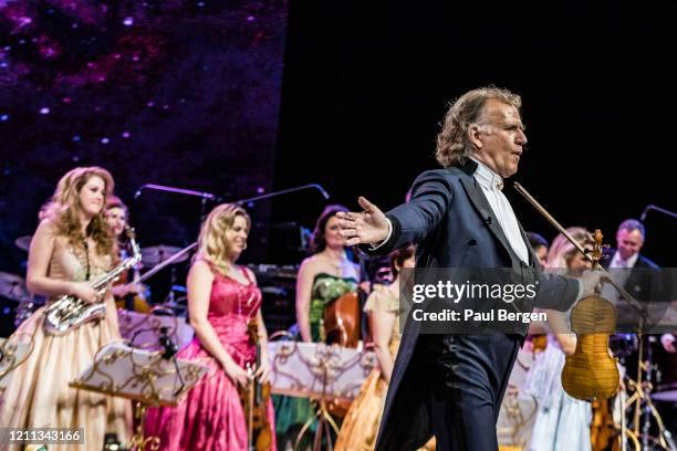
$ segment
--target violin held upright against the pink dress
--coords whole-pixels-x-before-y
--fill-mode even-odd
[[[261,345],[257,318],[249,319],[247,333],[250,343],[257,344],[256,368],[261,365]],[[267,408],[270,400],[270,382],[261,384],[252,378],[247,387],[239,388],[240,401],[247,419],[248,451],[268,451],[273,442],[273,424],[268,421]]]

